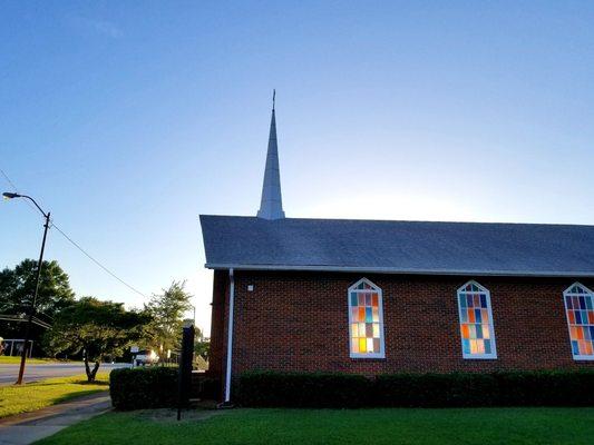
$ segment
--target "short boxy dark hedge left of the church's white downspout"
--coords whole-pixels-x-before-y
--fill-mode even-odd
[[[176,405],[177,368],[142,367],[114,369],[109,395],[116,409],[166,408]]]

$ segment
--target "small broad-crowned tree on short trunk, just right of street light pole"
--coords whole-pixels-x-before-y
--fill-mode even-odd
[[[85,297],[59,313],[45,342],[56,354],[82,352],[87,379],[94,382],[101,360],[120,356],[132,343],[142,339],[149,322],[146,312],[126,310],[121,303]]]

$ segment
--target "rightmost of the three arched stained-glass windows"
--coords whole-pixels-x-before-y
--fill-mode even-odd
[[[574,283],[563,293],[575,360],[594,360],[594,293]]]

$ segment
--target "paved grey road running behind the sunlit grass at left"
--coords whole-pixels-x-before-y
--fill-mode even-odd
[[[101,364],[99,373],[129,366],[126,363]],[[25,368],[25,382],[42,380],[51,377],[67,377],[77,374],[85,374],[85,365],[76,364],[48,364],[48,365],[27,365]],[[0,365],[0,385],[10,385],[17,380],[19,375],[19,365]]]

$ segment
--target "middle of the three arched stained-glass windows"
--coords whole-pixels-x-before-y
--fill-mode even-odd
[[[497,358],[490,294],[476,281],[458,289],[464,358]]]

